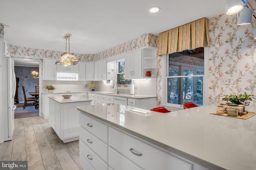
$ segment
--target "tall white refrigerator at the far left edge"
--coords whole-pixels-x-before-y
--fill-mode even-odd
[[[14,73],[14,61],[11,59],[8,52],[7,45],[0,40],[1,43],[1,130],[2,139],[4,141],[12,140],[12,133],[14,131],[14,96],[16,92],[16,78]],[[2,48],[4,46],[4,48]],[[3,50],[4,49],[4,50]],[[1,143],[1,141],[0,141]]]

